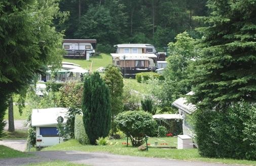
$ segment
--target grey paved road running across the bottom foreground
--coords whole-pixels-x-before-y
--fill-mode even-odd
[[[31,158],[14,158],[0,159],[0,165],[16,166],[31,162],[66,160],[74,163],[84,163],[94,166],[231,166],[221,163],[207,163],[200,161],[183,161],[175,159],[151,158],[151,157],[135,157],[128,155],[116,155],[108,153],[89,153],[81,151],[39,151],[32,152],[35,157]],[[232,165],[235,166],[235,165]],[[236,165],[237,166],[237,165]]]

